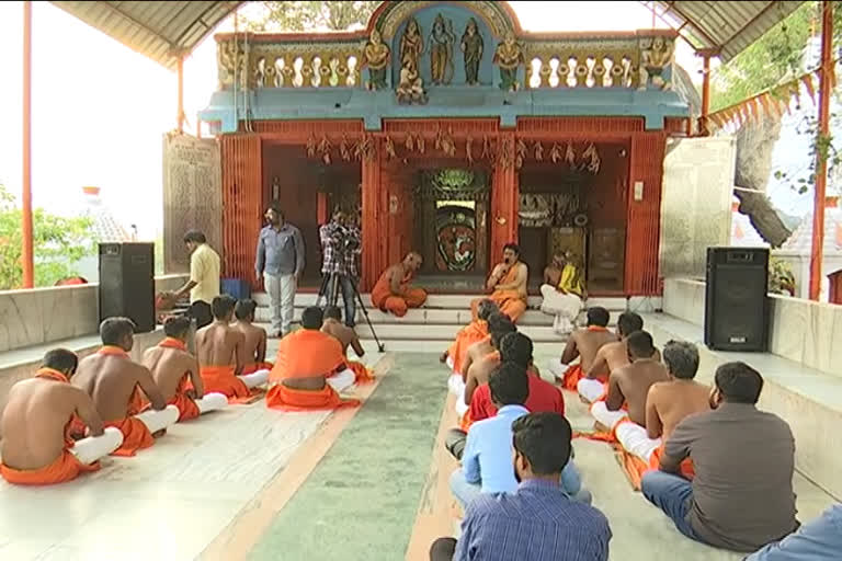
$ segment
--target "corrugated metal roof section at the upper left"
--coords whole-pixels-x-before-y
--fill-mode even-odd
[[[170,70],[243,2],[53,2]]]

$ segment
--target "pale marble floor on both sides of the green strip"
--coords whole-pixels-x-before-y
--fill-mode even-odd
[[[366,363],[369,365],[380,358],[385,363],[399,360],[403,351],[429,353],[429,367],[418,366],[412,375],[441,376],[445,383],[446,373],[435,358],[442,351],[437,346],[406,343],[402,348],[390,348],[395,354],[386,355],[378,355],[371,344],[367,348]],[[543,364],[549,356],[537,356],[536,359]],[[376,392],[377,387],[367,391]],[[568,417],[573,426],[587,428],[590,421],[584,407],[571,394],[566,398]],[[0,482],[0,559],[247,559],[264,530],[254,529],[248,547],[226,536],[236,534],[234,530],[249,530],[251,526],[271,528],[272,520],[283,519],[278,518],[278,512],[287,504],[294,504],[291,496],[295,494],[296,485],[304,489],[307,477],[316,472],[322,456],[329,458],[333,442],[361,434],[353,430],[343,432],[353,424],[333,426],[341,414],[281,413],[266,410],[262,402],[231,407],[175,425],[156,446],[139,453],[136,458],[109,458],[101,471],[71,483],[53,488],[15,488]],[[353,414],[345,415],[348,423],[353,423]],[[448,415],[453,415],[452,410],[445,407],[441,423],[428,423],[425,430],[435,424],[453,426],[455,421]],[[331,427],[332,435],[327,434]],[[441,430],[439,434],[442,434]],[[348,440],[343,443],[345,448],[337,446],[335,449],[341,451],[346,445]],[[440,445],[441,442],[433,445],[433,458],[441,458],[436,455]],[[319,453],[321,456],[306,458],[309,463],[299,466],[298,474],[291,471],[289,467],[299,462],[303,453],[317,446],[323,448]],[[603,510],[611,522],[614,534],[612,560],[741,559],[739,554],[716,551],[681,537],[660,512],[632,491],[607,445],[577,440],[574,448],[584,482],[594,494],[594,505]],[[341,458],[332,461],[337,460]],[[418,492],[419,515],[411,530],[407,559],[420,561],[425,558],[431,534],[419,531],[419,520],[425,517],[425,523],[435,523],[428,529],[434,527],[436,533],[454,527],[446,488],[441,483],[446,482],[452,467],[452,463],[433,459],[428,484]],[[389,468],[372,462],[369,469],[373,471],[369,477],[376,479],[378,474],[386,477]],[[800,476],[796,476],[795,485],[803,522],[813,518],[832,502]],[[286,499],[278,499],[278,490],[286,493]],[[430,507],[424,502],[433,495],[440,499]],[[337,503],[326,508],[338,510],[341,514],[344,506]],[[335,518],[337,513],[331,516]],[[371,512],[366,516],[371,519],[356,520],[356,524],[376,527],[378,519],[388,513]],[[309,522],[318,524],[318,520]],[[407,533],[410,533],[409,528]],[[282,551],[275,558],[299,559],[285,557]],[[373,548],[367,559],[392,561],[394,556],[388,559],[378,557],[377,549]]]

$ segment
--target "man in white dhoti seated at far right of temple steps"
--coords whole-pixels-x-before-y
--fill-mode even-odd
[[[584,298],[582,270],[572,253],[559,252],[553,256],[553,263],[544,270],[541,295],[544,297],[541,311],[556,317],[554,331],[560,335],[572,332]]]

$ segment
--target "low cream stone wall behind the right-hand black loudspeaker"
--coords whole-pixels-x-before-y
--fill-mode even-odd
[[[777,295],[770,295],[770,299],[769,352],[808,368],[842,375],[842,306]],[[705,283],[667,278],[663,311],[704,327]]]

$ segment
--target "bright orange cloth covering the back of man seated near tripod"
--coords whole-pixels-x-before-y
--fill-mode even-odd
[[[344,364],[345,354],[335,337],[321,331],[303,329],[281,340],[269,379],[282,381],[287,378],[327,377]]]

